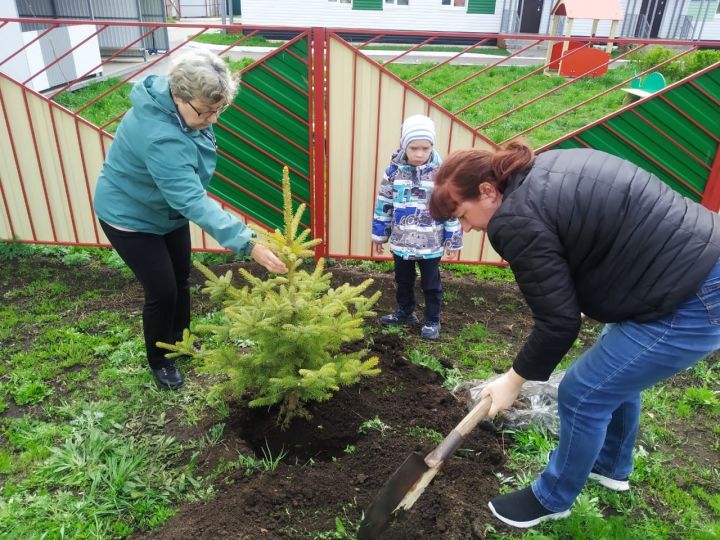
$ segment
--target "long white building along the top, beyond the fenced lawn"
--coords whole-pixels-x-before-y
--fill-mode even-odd
[[[598,0],[581,0],[594,2]],[[720,0],[621,0],[623,37],[720,40]],[[548,31],[553,0],[242,0],[244,25],[479,33]],[[589,35],[580,21],[574,35]],[[607,35],[609,23],[598,35]]]

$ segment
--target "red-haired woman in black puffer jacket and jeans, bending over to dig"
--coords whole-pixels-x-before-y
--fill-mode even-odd
[[[720,348],[720,216],[634,164],[589,149],[537,157],[512,143],[440,167],[430,212],[486,231],[535,325],[487,385],[491,415],[547,380],[580,330],[608,323],[559,388],[560,441],[532,486],[494,498],[515,527],[566,517],[588,478],[629,489],[640,392]]]

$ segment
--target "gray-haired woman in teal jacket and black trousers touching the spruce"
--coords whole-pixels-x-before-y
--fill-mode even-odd
[[[181,339],[190,323],[190,221],[269,271],[287,271],[206,192],[216,164],[212,125],[236,87],[225,63],[205,51],[179,57],[167,77],[136,84],[95,191],[105,235],[143,286],[145,348],[161,388],[183,384],[156,343]]]

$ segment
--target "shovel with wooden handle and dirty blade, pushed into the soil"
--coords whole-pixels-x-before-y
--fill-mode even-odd
[[[400,465],[375,500],[370,504],[358,530],[358,540],[374,540],[385,530],[392,514],[409,510],[440,470],[443,463],[458,449],[465,436],[487,416],[492,399],[485,397],[455,426],[443,442],[424,458],[410,454]]]

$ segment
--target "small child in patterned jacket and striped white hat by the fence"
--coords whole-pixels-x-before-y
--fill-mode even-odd
[[[435,221],[428,204],[435,172],[441,159],[434,149],[435,124],[427,116],[410,116],[403,122],[400,148],[385,169],[375,204],[372,241],[375,254],[385,253],[390,241],[395,260],[397,309],[383,315],[383,325],[415,324],[415,266],[425,295],[425,321],[420,330],[426,339],[440,337],[440,258],[452,257],[462,248],[462,228],[457,219]]]

